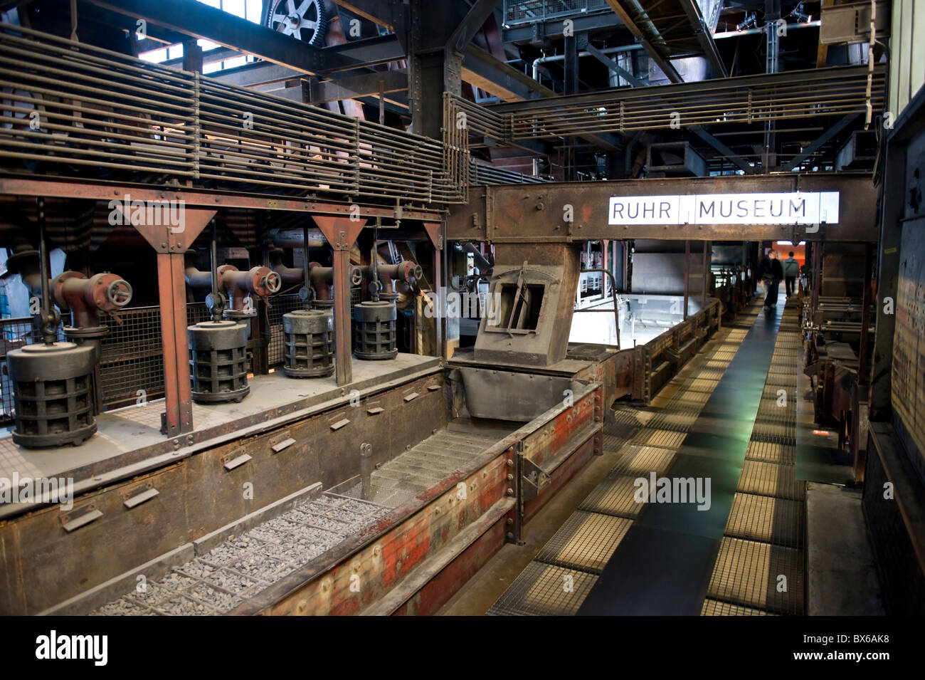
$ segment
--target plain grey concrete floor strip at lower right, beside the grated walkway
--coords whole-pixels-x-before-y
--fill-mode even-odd
[[[860,490],[809,482],[807,531],[808,614],[885,614]]]

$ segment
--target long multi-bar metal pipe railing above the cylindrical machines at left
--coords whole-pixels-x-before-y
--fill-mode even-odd
[[[461,203],[442,142],[0,24],[0,163],[80,179]]]

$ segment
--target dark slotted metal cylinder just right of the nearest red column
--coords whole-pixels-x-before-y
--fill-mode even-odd
[[[247,384],[247,324],[203,321],[187,327],[190,340],[192,401],[240,402]]]

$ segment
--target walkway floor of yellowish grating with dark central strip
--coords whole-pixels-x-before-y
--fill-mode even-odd
[[[618,464],[489,614],[804,612],[796,306],[756,305],[708,347],[663,408],[618,412],[617,426],[636,425],[605,438]],[[653,473],[709,480],[709,503],[637,502]]]

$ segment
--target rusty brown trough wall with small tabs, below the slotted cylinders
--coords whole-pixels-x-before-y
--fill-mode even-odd
[[[70,513],[49,506],[0,524],[0,563],[7,567],[0,575],[5,584],[0,612],[41,612],[314,482],[331,488],[358,476],[360,441],[377,442],[372,464],[388,461],[419,440],[422,431],[446,424],[442,391],[427,389],[441,384],[440,373],[406,379],[401,386],[364,396],[359,407],[351,406],[348,397],[333,410],[247,433],[196,455],[178,451],[174,460],[168,455],[154,472],[78,496]],[[420,397],[405,402],[412,391]],[[369,414],[374,403],[384,410]],[[344,427],[329,427],[344,419],[349,421]],[[285,439],[295,442],[275,451]],[[226,467],[242,456],[250,459]],[[245,482],[253,484],[253,500],[241,492]],[[147,484],[158,495],[126,508],[125,496]],[[450,493],[455,492],[454,486]],[[75,531],[64,530],[62,516],[91,507],[102,516]],[[48,560],[52,553],[60,560]]]

